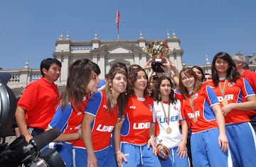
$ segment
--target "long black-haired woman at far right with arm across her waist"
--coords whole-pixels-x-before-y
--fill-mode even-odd
[[[225,124],[234,166],[255,166],[255,132],[246,110],[255,110],[256,96],[248,82],[240,77],[226,52],[215,54],[212,63],[213,87],[225,115]],[[242,102],[242,96],[246,102]]]

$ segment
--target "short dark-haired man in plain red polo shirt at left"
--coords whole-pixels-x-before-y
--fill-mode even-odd
[[[16,122],[26,141],[41,134],[54,115],[59,93],[55,81],[60,77],[61,62],[55,58],[43,59],[41,78],[28,84],[16,108]]]

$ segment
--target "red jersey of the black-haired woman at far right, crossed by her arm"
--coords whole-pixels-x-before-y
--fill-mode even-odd
[[[247,98],[248,96],[255,96],[255,93],[252,91],[252,87],[250,84],[240,77],[235,81],[235,83],[228,81],[220,81],[219,84],[221,86],[213,86],[212,81],[208,81],[210,86],[212,86],[216,95],[218,96],[219,102],[222,102],[224,99],[228,101],[228,103],[242,103],[242,96]],[[225,87],[224,87],[225,85]],[[221,89],[225,88],[224,94],[222,94]],[[223,104],[220,103],[222,107]],[[250,118],[244,110],[231,110],[230,113],[225,115],[225,123],[226,124],[234,124],[240,122],[250,122]]]

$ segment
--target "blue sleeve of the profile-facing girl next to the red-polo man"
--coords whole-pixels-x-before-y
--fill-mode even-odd
[[[53,119],[50,121],[49,126],[51,128],[58,127],[60,132],[63,132],[65,127],[67,127],[67,122],[72,113],[72,105],[68,103],[68,106],[61,110],[61,104],[58,105],[58,108],[55,110],[55,114],[53,115]]]

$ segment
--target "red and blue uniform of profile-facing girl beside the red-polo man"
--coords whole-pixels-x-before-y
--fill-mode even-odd
[[[49,127],[54,128],[58,127],[60,132],[63,134],[70,134],[78,132],[78,129],[81,127],[82,118],[85,112],[85,105],[88,102],[88,96],[85,96],[82,100],[82,103],[79,103],[79,106],[75,105],[74,102],[68,103],[65,108],[61,108],[61,101],[56,105],[55,115],[51,120]],[[80,139],[81,140],[81,139]],[[73,144],[75,141],[69,142],[57,142],[54,143],[53,147],[58,151],[66,166],[72,166],[73,163]]]

